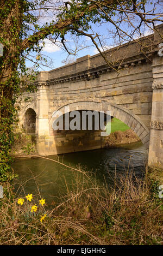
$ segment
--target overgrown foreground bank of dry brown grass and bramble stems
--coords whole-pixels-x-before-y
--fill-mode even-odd
[[[47,209],[46,202],[39,205],[39,191],[39,199],[33,196],[28,201],[24,195],[23,204],[18,204],[13,186],[6,184],[0,201],[0,244],[163,244],[163,199],[158,197],[163,184],[161,170],[146,170],[143,179],[127,172],[112,188],[97,184],[89,172],[73,173],[72,188],[67,186],[67,193],[52,210]],[[37,210],[31,212],[35,204]],[[45,216],[42,222],[41,216]]]

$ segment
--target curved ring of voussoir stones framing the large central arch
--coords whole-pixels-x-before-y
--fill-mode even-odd
[[[52,127],[53,122],[56,118],[53,115],[58,111],[59,116],[66,113],[65,107],[68,107],[70,111],[74,110],[92,110],[92,111],[110,111],[110,115],[118,118],[123,123],[126,123],[134,132],[139,136],[146,148],[149,147],[149,129],[148,127],[131,111],[123,108],[117,104],[103,103],[100,101],[89,101],[89,100],[76,100],[60,106],[53,112],[49,119],[49,126]],[[58,118],[57,117],[57,118]]]

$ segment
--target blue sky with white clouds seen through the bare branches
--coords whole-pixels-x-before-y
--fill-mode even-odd
[[[153,8],[153,4],[154,2],[157,1],[148,1],[148,5],[147,5],[147,11],[151,10]],[[152,4],[151,4],[152,3]],[[163,7],[163,1],[162,1],[162,7]],[[162,13],[162,10],[156,10],[158,13],[160,11],[160,13]],[[156,23],[155,25],[158,25],[158,23]],[[115,41],[113,40],[114,37],[114,33],[108,33],[108,29],[110,31],[111,29],[111,25],[110,23],[102,23],[102,24],[96,24],[96,25],[92,25],[92,29],[93,31],[98,32],[99,35],[101,35],[102,40],[104,40],[104,46],[105,46],[105,50],[109,49],[110,47],[114,47],[117,46],[117,43],[115,43]],[[124,30],[128,29],[128,27],[123,28]],[[91,31],[90,31],[91,32]],[[150,33],[152,33],[151,29],[149,29],[148,27],[145,27],[145,30],[143,31],[144,35],[148,35]],[[134,35],[134,37],[136,38],[136,35]],[[70,46],[71,48],[77,48],[79,51],[77,52],[76,56],[71,55],[69,58],[71,58],[71,61],[74,62],[76,61],[77,58],[79,57],[83,57],[85,55],[95,55],[98,53],[98,50],[96,49],[95,45],[92,44],[92,41],[90,38],[88,37],[82,37],[79,38],[77,41],[75,38],[71,38],[70,36],[68,36],[66,41],[66,45]],[[61,66],[64,66],[65,63],[63,63],[63,61],[66,59],[67,57],[67,53],[65,52],[65,50],[62,50],[59,46],[54,45],[50,40],[45,39],[45,46],[42,49],[42,56],[45,57],[48,61],[48,65],[46,66],[40,66],[39,71],[48,71],[54,68],[58,68]],[[40,43],[41,44],[41,43]],[[86,47],[87,46],[87,47]],[[101,48],[101,46],[99,45],[99,47]],[[33,53],[32,53],[33,55]],[[35,57],[33,57],[33,59],[35,60]],[[30,58],[30,57],[29,57]],[[33,66],[33,62],[27,60],[26,61],[26,66],[27,67],[32,67]]]

